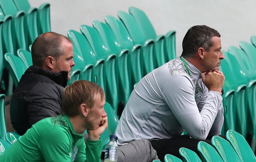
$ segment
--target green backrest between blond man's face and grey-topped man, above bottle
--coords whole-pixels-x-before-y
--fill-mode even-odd
[[[119,119],[109,103],[106,102],[104,109],[108,115],[108,128],[110,129],[110,134],[115,134]]]

